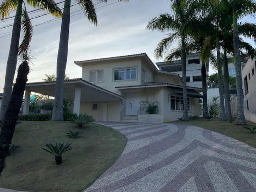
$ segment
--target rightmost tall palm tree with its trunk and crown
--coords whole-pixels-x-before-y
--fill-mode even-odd
[[[240,56],[240,43],[237,19],[245,15],[254,15],[256,13],[256,3],[254,0],[225,0],[225,7],[233,13],[233,37],[235,52],[235,70],[237,81],[237,118],[236,124],[245,125],[244,101],[242,91],[242,69]],[[228,5],[228,6],[227,6]]]

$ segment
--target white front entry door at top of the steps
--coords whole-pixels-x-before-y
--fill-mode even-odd
[[[139,93],[130,93],[126,94],[125,102],[125,115],[137,115],[139,110],[140,94]]]

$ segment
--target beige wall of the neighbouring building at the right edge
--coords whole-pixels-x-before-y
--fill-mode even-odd
[[[254,69],[254,75],[252,75],[252,69]],[[249,80],[249,74],[251,76]],[[244,79],[247,76],[248,82],[248,94],[245,95],[245,84]],[[255,68],[255,59],[248,59],[246,65],[242,69],[242,81],[243,81],[243,90],[244,90],[244,103],[245,107],[247,107],[246,101],[248,100],[249,111],[252,113],[256,113],[256,68]]]

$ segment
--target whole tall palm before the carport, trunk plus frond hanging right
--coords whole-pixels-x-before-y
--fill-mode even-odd
[[[107,0],[99,0],[106,2]],[[118,0],[126,1],[128,0]],[[97,15],[92,0],[78,0],[79,5],[84,9],[84,14],[87,19],[94,25],[97,25]],[[59,38],[59,51],[57,56],[57,79],[55,87],[55,99],[52,113],[52,120],[63,120],[63,91],[64,91],[64,76],[67,66],[68,42],[69,42],[69,24],[70,24],[70,3],[71,0],[66,0],[64,4],[63,17],[61,22],[61,31]]]

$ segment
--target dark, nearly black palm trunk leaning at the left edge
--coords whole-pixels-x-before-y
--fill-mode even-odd
[[[22,98],[29,74],[29,65],[25,61],[19,66],[16,83],[8,104],[0,132],[0,175],[5,167],[5,158],[9,152],[11,140],[18,120]]]

